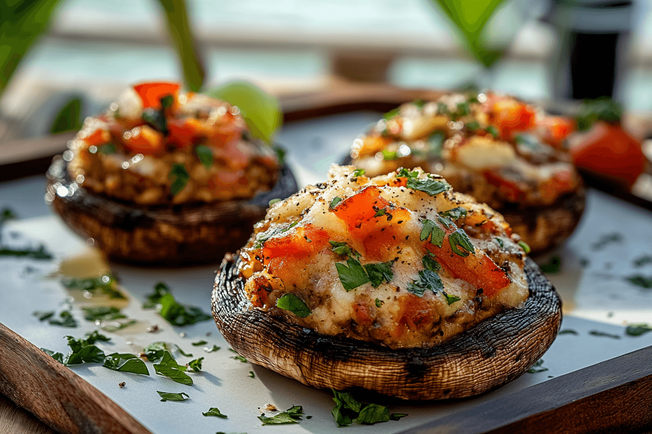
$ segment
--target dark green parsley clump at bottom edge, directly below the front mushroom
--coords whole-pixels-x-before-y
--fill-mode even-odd
[[[385,405],[361,403],[348,392],[331,390],[333,390],[333,401],[335,401],[335,407],[331,414],[333,414],[338,427],[349,426],[354,421],[359,424],[371,425],[389,420],[399,420],[408,416],[405,413],[389,413],[389,408]]]

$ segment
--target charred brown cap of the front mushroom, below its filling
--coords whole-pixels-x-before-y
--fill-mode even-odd
[[[251,362],[318,388],[363,388],[404,400],[473,396],[526,372],[561,323],[559,295],[529,258],[523,308],[505,310],[438,346],[396,350],[318,334],[252,308],[238,262],[227,255],[215,278],[218,329]]]

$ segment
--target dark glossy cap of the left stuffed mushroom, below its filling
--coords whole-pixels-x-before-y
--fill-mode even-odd
[[[215,262],[246,243],[271,199],[298,190],[291,170],[283,166],[273,189],[252,199],[138,206],[78,187],[61,156],[48,170],[47,188],[53,208],[78,235],[93,239],[114,260],[157,265]]]

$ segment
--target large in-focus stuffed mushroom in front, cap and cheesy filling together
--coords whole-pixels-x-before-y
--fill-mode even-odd
[[[306,385],[462,398],[522,375],[561,301],[503,217],[420,168],[276,202],[216,276],[213,316],[248,360]]]

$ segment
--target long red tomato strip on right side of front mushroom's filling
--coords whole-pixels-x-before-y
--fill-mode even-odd
[[[503,269],[485,252],[476,249],[475,254],[460,256],[452,251],[449,242],[450,230],[447,228],[441,247],[432,243],[426,249],[437,256],[439,263],[449,269],[451,273],[462,280],[466,280],[475,288],[482,288],[487,297],[493,297],[511,283]]]

